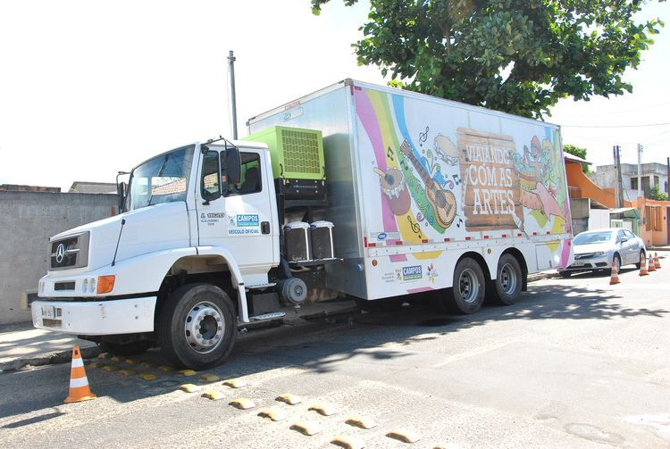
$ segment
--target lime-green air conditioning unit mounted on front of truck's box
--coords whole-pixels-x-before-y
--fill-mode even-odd
[[[326,171],[321,131],[274,126],[244,140],[270,148],[277,193],[293,199],[325,198]]]

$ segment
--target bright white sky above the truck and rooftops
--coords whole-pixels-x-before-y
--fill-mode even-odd
[[[37,1],[0,4],[0,184],[62,187],[114,182],[154,154],[230,137],[227,56],[235,52],[239,136],[245,122],[341,79],[385,84],[359,67],[351,44],[369,3],[332,0],[321,16],[309,0],[244,2]],[[667,28],[625,79],[633,93],[561,101],[547,121],[594,165],[666,162],[670,126],[670,4],[644,17]],[[578,128],[578,127],[612,128]],[[624,128],[631,127],[631,128]]]

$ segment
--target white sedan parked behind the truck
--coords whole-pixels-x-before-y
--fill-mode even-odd
[[[595,229],[577,234],[573,239],[574,263],[558,270],[564,278],[574,271],[611,270],[612,262],[617,270],[622,265],[635,264],[640,268],[641,255],[647,256],[647,248],[640,237],[628,229]]]

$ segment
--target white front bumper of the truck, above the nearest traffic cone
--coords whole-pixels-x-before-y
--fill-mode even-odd
[[[34,301],[36,328],[66,334],[102,336],[154,330],[155,296],[104,301]]]

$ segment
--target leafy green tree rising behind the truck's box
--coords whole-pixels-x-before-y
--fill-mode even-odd
[[[311,0],[319,14],[330,0]],[[352,5],[357,0],[343,0]],[[658,0],[664,2],[665,0]],[[358,63],[389,84],[542,118],[560,98],[632,92],[623,79],[660,20],[643,0],[370,0]]]

